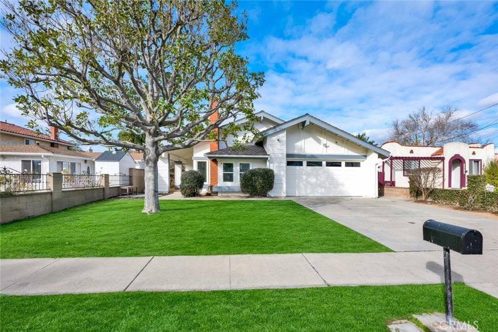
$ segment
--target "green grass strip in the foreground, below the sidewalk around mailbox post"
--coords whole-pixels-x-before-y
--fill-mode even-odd
[[[443,285],[1,296],[1,331],[387,331],[444,312]],[[455,317],[496,331],[498,299],[455,284]]]

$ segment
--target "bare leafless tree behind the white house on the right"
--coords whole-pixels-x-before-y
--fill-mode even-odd
[[[454,106],[445,106],[439,112],[423,107],[404,119],[392,121],[390,139],[414,145],[443,144],[452,140],[468,142],[478,125],[460,118],[459,111]]]

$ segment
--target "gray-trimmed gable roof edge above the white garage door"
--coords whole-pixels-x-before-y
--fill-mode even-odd
[[[319,118],[316,118],[310,114],[304,114],[304,115],[298,116],[296,118],[293,118],[291,120],[288,120],[286,122],[278,124],[274,127],[271,127],[271,128],[266,129],[264,131],[261,131],[261,135],[268,136],[270,134],[273,134],[275,132],[278,132],[280,130],[283,130],[285,128],[288,128],[290,126],[293,126],[293,125],[301,123],[301,122],[305,122],[305,124],[313,123],[319,127],[322,127],[324,129],[327,129],[327,130],[335,133],[336,135],[338,135],[340,137],[343,137],[344,139],[347,139],[347,140],[352,141],[360,146],[363,146],[367,149],[375,151],[382,156],[388,157],[390,154],[389,151],[384,150],[376,145],[370,144],[370,143],[364,141],[363,139],[360,139],[360,138],[356,137],[355,135],[352,135],[344,130],[341,130],[341,129],[339,129],[331,124],[328,124],[327,122],[322,121]]]

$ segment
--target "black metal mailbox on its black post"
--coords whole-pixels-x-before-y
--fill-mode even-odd
[[[435,220],[425,221],[422,229],[425,241],[443,247],[446,322],[452,326],[454,319],[450,249],[462,255],[482,255],[483,235],[476,229],[455,226]]]

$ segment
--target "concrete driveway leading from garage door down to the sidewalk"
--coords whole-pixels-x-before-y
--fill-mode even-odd
[[[498,250],[498,217],[491,214],[392,197],[297,197],[293,200],[394,251],[439,250],[438,246],[422,240],[422,224],[428,219],[478,229],[483,234],[484,249]]]

